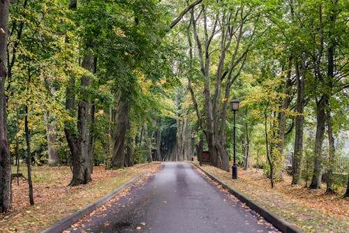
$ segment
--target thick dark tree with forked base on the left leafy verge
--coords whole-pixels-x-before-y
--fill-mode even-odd
[[[70,182],[70,186],[77,186],[82,183],[89,183],[91,181],[91,167],[92,162],[89,151],[92,149],[89,147],[89,87],[91,83],[91,76],[96,73],[95,56],[94,50],[96,47],[96,42],[101,30],[98,26],[92,23],[90,20],[101,20],[100,18],[95,18],[98,15],[98,10],[103,10],[105,8],[105,3],[101,3],[100,7],[95,10],[95,3],[90,3],[89,1],[82,3],[82,8],[80,13],[84,15],[82,19],[82,24],[85,28],[80,31],[82,34],[82,68],[84,71],[81,75],[80,80],[80,93],[77,102],[77,130],[75,127],[66,126],[65,132],[70,146],[70,151],[73,157],[73,178]],[[77,1],[70,1],[70,10],[77,9]],[[94,17],[92,17],[92,15]],[[75,87],[75,77],[70,79],[70,87],[67,89],[66,98],[66,109],[75,109],[75,93],[71,91]],[[89,150],[90,148],[90,150]]]

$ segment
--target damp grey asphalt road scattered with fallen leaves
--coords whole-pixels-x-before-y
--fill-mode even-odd
[[[278,232],[189,163],[163,169],[66,232]]]

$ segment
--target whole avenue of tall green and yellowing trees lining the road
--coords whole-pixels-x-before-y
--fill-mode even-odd
[[[349,188],[348,4],[0,0],[0,211],[22,162],[31,204],[33,165],[70,186],[202,151],[229,171],[234,96],[239,166]]]

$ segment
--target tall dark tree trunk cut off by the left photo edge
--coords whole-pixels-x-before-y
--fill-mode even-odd
[[[11,162],[7,140],[6,116],[6,46],[8,37],[9,1],[0,1],[0,212],[7,212],[12,206]]]

